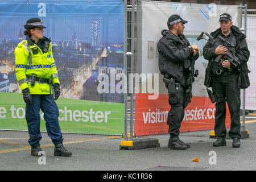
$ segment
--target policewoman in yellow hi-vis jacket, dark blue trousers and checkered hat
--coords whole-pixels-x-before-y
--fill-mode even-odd
[[[40,148],[40,109],[44,113],[48,136],[55,144],[54,155],[70,156],[71,152],[63,147],[59,126],[59,109],[54,100],[60,96],[60,82],[56,64],[52,57],[51,40],[44,36],[43,22],[31,18],[24,25],[26,40],[15,48],[15,73],[23,99],[26,102],[26,120],[31,145],[31,155],[42,154]],[[53,100],[51,84],[54,88]]]

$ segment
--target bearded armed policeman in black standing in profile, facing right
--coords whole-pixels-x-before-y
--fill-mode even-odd
[[[189,70],[191,70],[191,57],[199,57],[199,48],[190,46],[183,35],[184,24],[179,15],[172,15],[168,19],[169,30],[162,30],[163,37],[158,42],[159,70],[164,75],[164,82],[169,94],[171,110],[168,113],[167,125],[170,139],[168,147],[175,150],[185,150],[190,147],[179,139],[179,129],[184,117],[184,109],[191,101],[192,94],[186,92]],[[188,99],[186,99],[188,98]],[[187,102],[188,101],[188,102]]]

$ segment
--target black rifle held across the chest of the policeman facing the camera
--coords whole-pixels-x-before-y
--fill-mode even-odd
[[[204,34],[208,36],[208,38],[209,38],[208,40],[205,39],[205,38],[203,38],[203,35],[204,35]],[[222,59],[222,56],[223,56],[223,57],[225,56],[225,57],[226,57],[225,59],[229,60],[229,62],[234,66],[234,68],[237,68],[237,66],[241,64],[240,60],[236,57],[236,51],[230,49],[229,46],[230,46],[231,44],[230,44],[227,40],[225,40],[224,38],[222,38],[221,36],[218,36],[218,39],[221,40],[221,42],[223,43],[223,45],[219,44],[216,40],[214,40],[211,35],[207,34],[207,32],[201,32],[201,34],[199,35],[199,37],[198,37],[196,40],[201,40],[201,39],[205,39],[205,40],[207,40],[207,41],[211,41],[214,47],[225,46],[226,48],[228,48],[228,51],[227,51],[224,55],[218,55],[218,56],[216,57],[216,59],[214,59],[214,62],[221,64],[222,61],[220,62],[220,60]],[[220,70],[217,70],[217,71],[216,71],[216,74],[217,74],[217,75],[220,75],[221,72],[222,72],[221,69],[220,69]]]

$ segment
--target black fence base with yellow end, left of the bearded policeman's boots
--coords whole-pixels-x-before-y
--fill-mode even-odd
[[[131,140],[122,140],[119,146],[120,150],[138,150],[143,148],[154,148],[160,147],[159,139],[135,139]]]

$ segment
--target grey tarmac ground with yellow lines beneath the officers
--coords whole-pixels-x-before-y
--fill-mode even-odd
[[[63,144],[73,153],[70,157],[53,156],[51,139],[47,133],[42,133],[40,144],[46,156],[40,159],[30,155],[27,131],[0,130],[0,170],[255,171],[256,121],[246,121],[245,129],[249,130],[250,137],[241,139],[240,148],[232,148],[232,139],[227,139],[227,146],[213,147],[216,138],[209,138],[210,130],[180,133],[181,140],[191,143],[191,147],[184,151],[168,148],[168,134],[138,137],[158,138],[160,147],[157,148],[119,150],[121,140],[125,138],[64,133]],[[192,162],[194,158],[199,158],[200,162]]]

